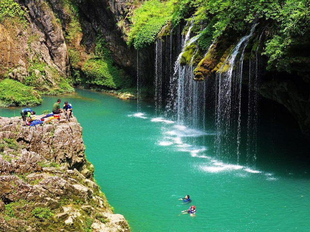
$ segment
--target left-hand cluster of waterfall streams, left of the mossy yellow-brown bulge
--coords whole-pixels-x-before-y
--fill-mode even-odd
[[[185,34],[181,35],[181,30],[177,27],[175,39],[172,36],[173,29],[171,29],[169,39],[166,37],[156,40],[155,108],[158,115],[160,108],[165,105],[165,116],[172,117],[178,124],[198,127],[204,124],[206,99],[205,82],[193,79],[195,69],[193,62],[198,49],[194,51],[189,64],[180,64],[186,46],[196,43],[199,39],[200,35],[194,37],[191,35],[193,26],[194,19],[187,22],[188,31]]]

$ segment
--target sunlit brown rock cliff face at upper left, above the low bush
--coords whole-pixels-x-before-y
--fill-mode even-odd
[[[19,2],[25,20],[7,17],[0,22],[0,79],[8,77],[43,93],[62,89],[69,72],[62,28],[45,1]],[[67,85],[68,86],[68,85]]]

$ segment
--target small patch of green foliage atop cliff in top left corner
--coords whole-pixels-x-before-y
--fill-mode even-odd
[[[26,23],[25,12],[15,0],[0,0],[0,22],[7,17],[17,18],[20,23]]]

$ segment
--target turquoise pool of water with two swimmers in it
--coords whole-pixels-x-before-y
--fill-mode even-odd
[[[57,98],[33,109],[51,109]],[[212,129],[163,122],[150,103],[136,114],[135,102],[103,93],[60,98],[73,105],[95,178],[133,232],[310,231],[309,162],[299,158],[309,152],[296,128],[262,120],[254,168],[217,158]],[[19,112],[0,108],[0,116]],[[181,214],[186,194],[195,217]]]

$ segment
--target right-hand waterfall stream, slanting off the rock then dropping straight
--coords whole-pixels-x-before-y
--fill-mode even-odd
[[[253,35],[257,24],[253,24],[250,33],[240,39],[233,48],[232,54],[227,57],[219,71],[217,72],[217,102],[216,102],[216,128],[217,138],[215,140],[216,153],[221,156],[230,156],[234,141],[237,141],[237,160],[239,161],[240,133],[241,133],[241,81],[244,49],[249,38]],[[242,47],[239,68],[233,72],[236,57]],[[235,88],[237,87],[237,88]],[[236,89],[238,91],[236,91]],[[235,103],[235,104],[233,104]],[[232,105],[233,104],[233,105]],[[237,104],[238,107],[235,105]],[[234,112],[237,111],[237,120]],[[233,132],[234,125],[237,124],[237,136]]]

